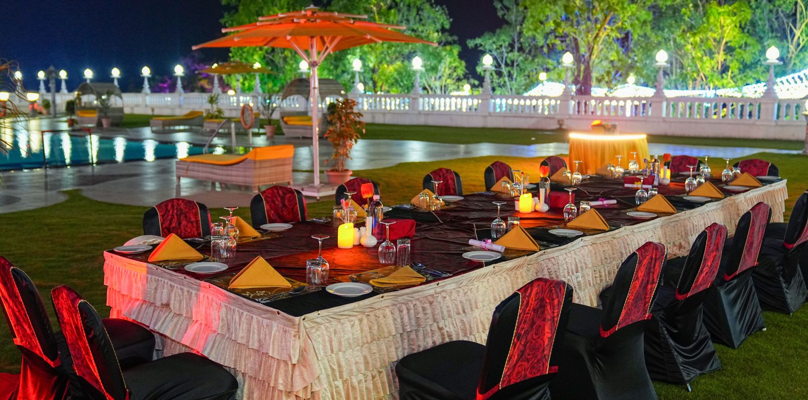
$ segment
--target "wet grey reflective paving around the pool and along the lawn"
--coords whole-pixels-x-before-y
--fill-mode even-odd
[[[35,120],[32,128],[63,129],[63,123]],[[187,142],[203,145],[207,133],[176,131],[154,133],[149,128],[94,130],[103,137],[124,137],[128,140],[158,140],[164,142]],[[249,147],[246,135],[237,136],[238,146]],[[229,135],[217,137],[214,145],[230,145]],[[253,146],[267,144],[293,144],[295,156],[293,168],[296,183],[311,181],[312,146],[308,139],[286,139],[280,136],[267,140],[265,135],[255,135]],[[721,148],[706,146],[683,146],[650,144],[652,154],[709,154],[714,157],[738,158],[755,152],[789,152],[763,148]],[[416,140],[360,140],[348,161],[349,169],[377,169],[410,161],[435,161],[474,156],[551,156],[567,152],[567,144],[440,144]],[[330,143],[320,141],[321,166],[330,157]],[[323,168],[325,169],[325,168]],[[306,173],[305,171],[309,171]],[[122,164],[78,166],[71,168],[36,169],[3,173],[5,188],[0,188],[0,213],[30,210],[65,200],[61,190],[81,189],[82,193],[103,202],[115,202],[139,206],[152,206],[167,198],[183,197],[204,202],[210,207],[249,206],[252,192],[234,185],[212,185],[201,181],[183,179],[175,185],[174,160],[134,161]],[[323,177],[325,179],[325,177]]]

